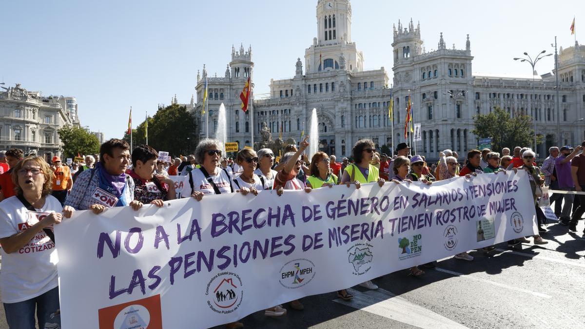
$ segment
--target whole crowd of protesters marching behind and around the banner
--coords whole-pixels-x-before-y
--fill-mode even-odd
[[[536,166],[535,153],[529,148],[516,147],[501,153],[494,150],[470,150],[463,161],[452,150],[439,152],[439,160],[428,165],[424,156],[411,154],[406,143],[397,146],[394,155],[379,153],[370,139],[358,140],[351,158],[336,157],[325,152],[307,155],[308,136],[299,145],[288,145],[276,163],[271,149],[257,152],[250,148],[240,150],[235,159],[222,154],[223,145],[215,139],[201,140],[193,155],[160,161],[158,153],[149,145],[130,150],[123,140],[111,139],[101,145],[99,155],[87,155],[84,162],[67,165],[59,156],[47,163],[36,155],[25,156],[22,150],[0,152],[0,244],[2,245],[2,271],[0,289],[6,320],[11,328],[35,327],[35,314],[39,328],[59,325],[59,292],[57,267],[53,261],[56,251],[53,225],[63,217],[69,218],[76,210],[102,213],[113,204],[129,205],[138,210],[143,204],[163,206],[163,201],[177,197],[170,176],[188,176],[190,196],[201,201],[213,194],[241,193],[256,196],[262,190],[314,189],[343,184],[360,189],[362,184],[419,181],[433,184],[448,179],[473,179],[478,174],[506,174],[526,170],[531,184],[532,198],[538,219],[539,235],[534,244],[546,244],[545,216],[538,207],[542,188],[559,191],[550,196],[559,223],[576,231],[577,222],[585,213],[585,195],[563,193],[585,190],[585,155],[583,147],[550,148],[550,155],[541,167]],[[310,160],[309,160],[310,159]],[[409,184],[409,183],[407,183]],[[110,201],[105,204],[95,198],[101,193]],[[29,211],[35,216],[31,217]],[[36,218],[30,220],[30,218]],[[525,238],[508,241],[515,246]],[[27,250],[39,252],[27,252]],[[483,248],[490,252],[494,247]],[[467,252],[455,255],[456,259],[473,261]],[[433,268],[434,262],[420,264]],[[408,274],[420,276],[425,272],[419,266],[408,269]],[[378,289],[368,280],[360,284],[367,289]],[[339,290],[343,300],[352,300],[346,290]],[[302,310],[300,300],[288,303],[291,309]],[[266,316],[284,316],[287,309],[277,305],[264,310]],[[228,328],[243,327],[240,322],[227,324]]]

